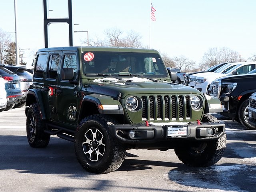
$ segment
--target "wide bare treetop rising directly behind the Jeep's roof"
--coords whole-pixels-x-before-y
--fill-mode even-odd
[[[109,47],[143,47],[140,42],[141,36],[139,33],[129,31],[126,35],[123,31],[117,28],[107,29],[105,31],[105,40],[100,40],[96,37],[95,40],[90,40],[92,46],[109,46]],[[124,36],[124,37],[123,37]]]

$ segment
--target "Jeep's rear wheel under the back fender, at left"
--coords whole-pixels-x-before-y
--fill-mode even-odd
[[[44,133],[45,123],[40,118],[37,104],[31,104],[28,108],[26,131],[28,143],[31,147],[46,147],[50,141],[50,134]]]

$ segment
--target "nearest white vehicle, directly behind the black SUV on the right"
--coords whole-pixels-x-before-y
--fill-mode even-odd
[[[235,74],[246,74],[253,69],[256,68],[256,62],[238,62],[237,65],[234,65],[233,67],[230,65],[230,68],[228,71],[224,71],[222,73],[213,73],[202,76],[196,77],[195,86],[194,88],[200,90],[202,93],[207,93],[208,88],[210,87],[210,84],[213,80],[216,78],[222,77],[222,76],[229,76],[229,75],[235,75]]]

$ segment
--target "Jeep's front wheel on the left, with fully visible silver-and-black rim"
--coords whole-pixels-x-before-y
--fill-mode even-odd
[[[125,148],[114,141],[110,116],[92,115],[80,121],[75,134],[75,153],[80,165],[88,172],[108,173],[118,169],[124,161]]]

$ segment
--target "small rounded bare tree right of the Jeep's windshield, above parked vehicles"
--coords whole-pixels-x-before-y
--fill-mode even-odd
[[[192,60],[188,60],[184,55],[180,57],[174,57],[173,62],[176,67],[180,68],[181,71],[188,72],[194,69],[196,63]]]

